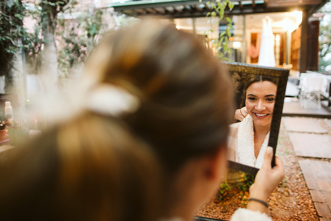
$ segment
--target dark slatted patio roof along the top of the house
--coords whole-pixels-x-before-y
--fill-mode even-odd
[[[237,0],[232,1],[234,8],[228,15],[254,13],[288,12],[307,8],[308,14],[314,13],[328,0]],[[205,17],[211,11],[207,0],[138,0],[115,3],[115,11],[134,17],[160,16],[163,18]]]

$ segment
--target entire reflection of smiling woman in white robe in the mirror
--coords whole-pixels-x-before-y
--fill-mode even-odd
[[[234,118],[240,122],[230,125],[228,159],[260,169],[268,146],[278,79],[251,74],[236,81],[240,106]]]

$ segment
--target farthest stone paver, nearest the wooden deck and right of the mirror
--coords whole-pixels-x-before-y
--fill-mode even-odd
[[[307,133],[327,133],[316,118],[283,117],[282,121],[287,131]]]

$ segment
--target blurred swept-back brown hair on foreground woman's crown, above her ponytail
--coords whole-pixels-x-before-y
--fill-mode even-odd
[[[233,92],[227,73],[197,37],[145,21],[105,36],[86,68],[98,83],[139,99],[138,110],[124,121],[169,170],[225,142]]]

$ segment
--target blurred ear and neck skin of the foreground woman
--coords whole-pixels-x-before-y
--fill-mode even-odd
[[[216,193],[226,170],[226,144],[220,145],[213,154],[187,160],[174,174],[173,185],[169,188],[172,193],[169,196],[171,214],[189,220]]]

